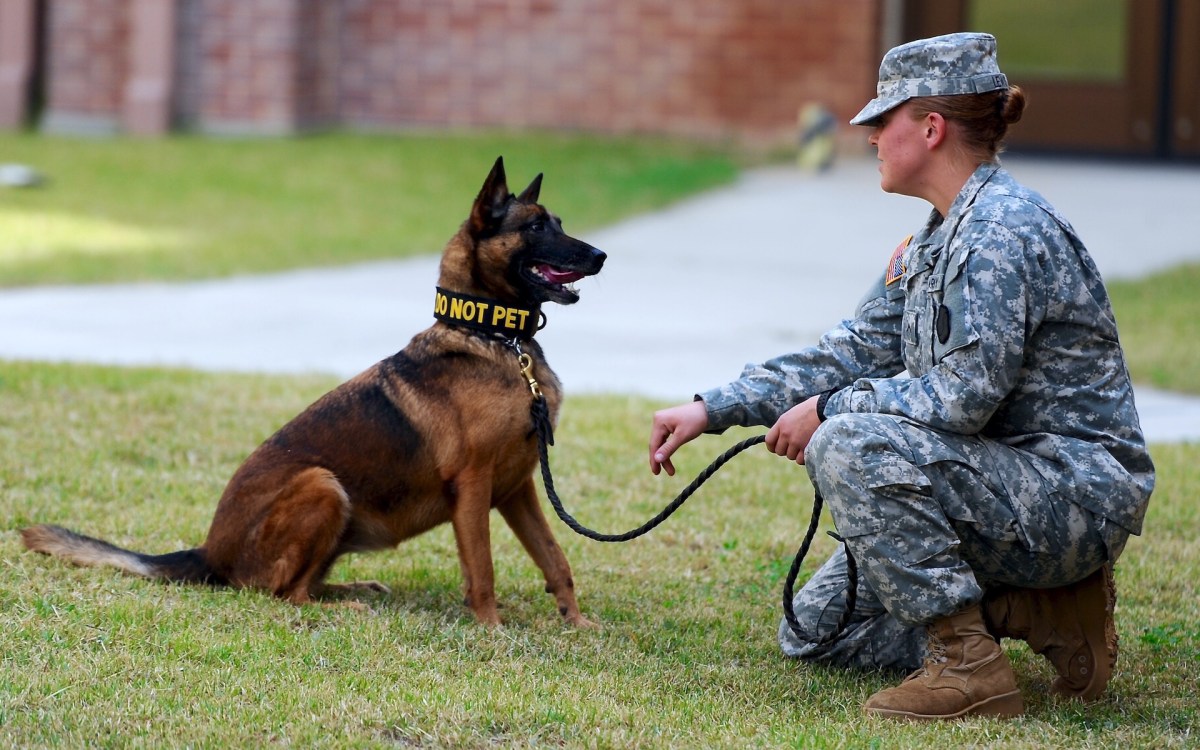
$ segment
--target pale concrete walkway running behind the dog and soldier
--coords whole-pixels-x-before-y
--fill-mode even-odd
[[[1198,168],[1018,157],[1006,166],[1072,220],[1106,278],[1200,262]],[[547,175],[551,209],[560,188]],[[844,160],[824,174],[754,170],[587,235],[608,253],[607,266],[580,282],[578,305],[546,308],[539,341],[569,394],[688,400],[848,316],[926,215],[924,202],[878,190],[874,160]],[[349,377],[432,323],[436,281],[437,259],[422,258],[4,290],[0,358]],[[1200,440],[1200,398],[1139,389],[1138,406],[1152,442]]]

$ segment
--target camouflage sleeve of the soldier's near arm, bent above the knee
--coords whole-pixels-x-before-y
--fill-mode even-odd
[[[904,338],[931,347],[931,367],[919,377],[860,378],[829,398],[826,415],[895,414],[946,432],[980,432],[1018,383],[1044,308],[1028,246],[991,221],[961,227],[942,293],[902,323]]]

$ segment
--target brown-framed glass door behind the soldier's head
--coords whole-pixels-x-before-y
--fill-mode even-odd
[[[905,36],[996,35],[1028,96],[1014,150],[1162,156],[1200,151],[1196,17],[1192,0],[911,0]]]

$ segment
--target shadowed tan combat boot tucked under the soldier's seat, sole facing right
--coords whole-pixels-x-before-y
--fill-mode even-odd
[[[984,620],[996,638],[1020,638],[1054,665],[1056,695],[1094,701],[1117,662],[1112,566],[1060,588],[989,592]]]

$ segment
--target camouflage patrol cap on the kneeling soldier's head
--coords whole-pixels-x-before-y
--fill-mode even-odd
[[[871,125],[880,115],[917,96],[985,94],[1008,88],[996,64],[996,37],[947,34],[893,47],[880,64],[876,96],[851,125]]]

